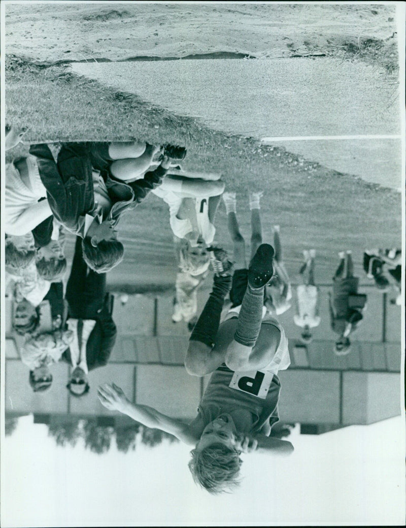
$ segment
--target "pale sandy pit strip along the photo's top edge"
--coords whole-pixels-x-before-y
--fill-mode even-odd
[[[280,57],[393,40],[393,5],[5,5],[6,53],[40,62],[216,52]],[[52,28],[52,31],[50,30]]]

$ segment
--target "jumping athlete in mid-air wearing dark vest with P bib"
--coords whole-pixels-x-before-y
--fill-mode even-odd
[[[264,287],[273,274],[273,248],[259,246],[248,269],[243,303],[231,309],[221,325],[231,266],[225,251],[216,249],[212,254],[214,286],[190,336],[185,359],[189,374],[212,373],[197,417],[185,424],[152,407],[133,404],[114,383],[100,386],[98,396],[107,409],[194,446],[189,462],[192,476],[209,493],[218,494],[238,485],[242,453],[290,455],[293,446],[269,438],[279,419],[277,372],[290,363],[282,326],[270,317],[262,320]]]

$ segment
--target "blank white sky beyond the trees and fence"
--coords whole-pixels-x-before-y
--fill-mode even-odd
[[[5,526],[396,525],[405,520],[404,419],[298,434],[289,458],[245,456],[240,489],[211,496],[192,482],[189,448],[139,445],[96,455],[56,447],[20,418],[2,446]]]

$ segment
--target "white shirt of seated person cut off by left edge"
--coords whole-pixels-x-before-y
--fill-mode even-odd
[[[46,190],[41,182],[36,158],[28,156],[26,162],[31,189],[21,180],[15,165],[13,163],[6,164],[4,216],[2,220],[4,231],[7,234],[24,235],[52,214],[47,200],[38,202],[40,198],[46,196]]]

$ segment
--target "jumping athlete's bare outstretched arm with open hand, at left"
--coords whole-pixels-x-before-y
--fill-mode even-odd
[[[111,385],[106,383],[99,386],[98,398],[105,408],[127,414],[127,416],[146,427],[168,432],[186,444],[195,444],[196,442],[186,423],[170,418],[153,407],[131,403],[115,383]]]

